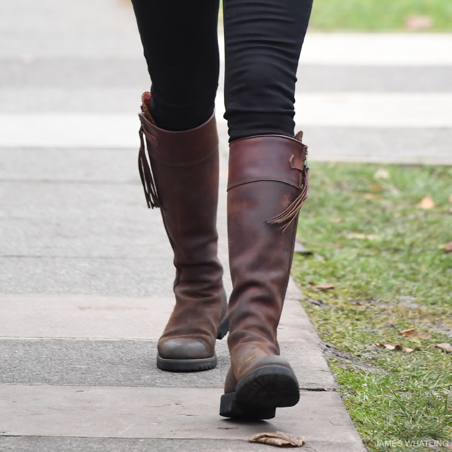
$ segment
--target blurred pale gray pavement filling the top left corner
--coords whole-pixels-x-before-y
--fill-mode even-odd
[[[43,56],[140,58],[143,54],[131,5],[120,0],[17,0],[14,7],[4,2],[0,28],[3,57],[29,61]]]

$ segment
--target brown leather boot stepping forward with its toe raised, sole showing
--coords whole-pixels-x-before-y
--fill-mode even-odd
[[[276,327],[292,264],[298,211],[307,198],[307,148],[278,135],[230,146],[231,368],[220,415],[270,419],[298,402],[297,379],[279,356]]]

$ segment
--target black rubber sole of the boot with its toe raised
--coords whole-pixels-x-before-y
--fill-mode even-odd
[[[298,381],[284,366],[262,366],[243,377],[236,391],[223,394],[220,416],[241,419],[272,419],[276,408],[293,406],[300,399]]]

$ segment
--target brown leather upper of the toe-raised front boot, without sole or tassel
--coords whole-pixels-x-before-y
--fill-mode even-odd
[[[228,235],[233,292],[228,338],[231,369],[225,393],[235,390],[257,360],[279,355],[276,328],[289,280],[297,218],[285,231],[268,219],[299,195],[304,166],[291,162],[294,158],[303,162],[305,149],[298,140],[283,136],[251,137],[230,145]]]

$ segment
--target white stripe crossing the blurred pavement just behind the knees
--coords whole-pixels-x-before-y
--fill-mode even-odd
[[[224,106],[216,105],[221,118]],[[452,127],[448,92],[297,92],[295,110],[306,126]],[[136,148],[137,133],[135,114],[0,114],[0,147]]]

